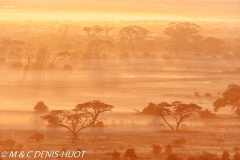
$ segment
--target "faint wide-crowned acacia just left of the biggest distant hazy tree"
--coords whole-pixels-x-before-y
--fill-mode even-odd
[[[149,34],[151,34],[150,31],[140,26],[123,27],[119,31],[119,35],[126,37],[129,43],[132,43],[134,40],[145,39]]]

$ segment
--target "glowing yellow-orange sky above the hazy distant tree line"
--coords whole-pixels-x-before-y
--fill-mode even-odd
[[[1,0],[1,20],[239,21],[239,0]]]

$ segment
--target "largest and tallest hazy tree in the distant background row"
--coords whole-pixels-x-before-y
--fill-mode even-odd
[[[201,27],[190,22],[171,22],[164,33],[169,36],[170,48],[175,51],[186,50],[191,46],[194,37],[198,35]]]

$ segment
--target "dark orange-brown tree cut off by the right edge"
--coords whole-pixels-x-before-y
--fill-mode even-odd
[[[236,114],[239,115],[240,108],[240,86],[230,84],[223,92],[222,98],[218,98],[213,103],[214,111],[218,111],[222,107],[232,107]]]

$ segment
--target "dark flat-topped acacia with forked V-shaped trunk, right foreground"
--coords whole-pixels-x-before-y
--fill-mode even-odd
[[[171,104],[167,102],[161,102],[157,105],[150,103],[148,107],[144,108],[140,113],[161,117],[172,131],[178,131],[179,126],[186,118],[199,113],[201,110],[202,107],[196,104],[184,104],[182,102],[175,101]],[[172,117],[174,119],[176,123],[175,128],[169,123],[167,117]]]

